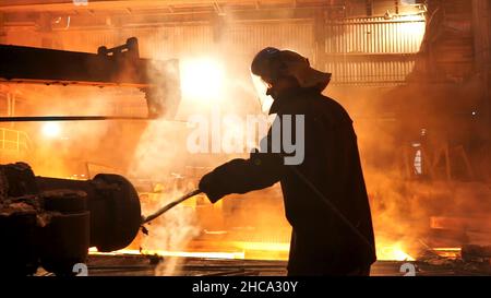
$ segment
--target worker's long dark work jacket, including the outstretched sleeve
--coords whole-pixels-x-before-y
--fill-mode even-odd
[[[374,237],[350,117],[335,100],[307,91],[275,100],[270,112],[279,119],[304,115],[303,163],[285,165],[287,154],[271,153],[270,142],[270,153],[255,152],[249,159],[230,160],[207,174],[204,191],[215,202],[280,181],[294,228],[289,275],[344,275],[369,267],[376,259]],[[272,130],[266,138],[272,140]]]

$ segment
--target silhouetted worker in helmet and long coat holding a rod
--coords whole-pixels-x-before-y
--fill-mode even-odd
[[[347,111],[322,95],[331,74],[276,48],[261,50],[251,72],[273,97],[270,114],[276,120],[249,159],[215,168],[201,179],[200,190],[215,203],[279,181],[292,226],[288,275],[369,275],[376,257],[357,135]],[[286,129],[303,142],[302,153],[287,150],[288,142],[275,148],[275,136],[284,139]]]

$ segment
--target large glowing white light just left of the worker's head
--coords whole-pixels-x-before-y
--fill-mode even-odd
[[[213,59],[189,59],[180,63],[182,96],[188,99],[219,99],[224,67]]]

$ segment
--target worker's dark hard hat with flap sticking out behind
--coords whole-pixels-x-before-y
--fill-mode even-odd
[[[261,50],[251,63],[251,72],[266,83],[273,83],[280,76],[297,79],[303,88],[323,91],[331,82],[331,73],[311,68],[309,59],[292,50],[279,50],[267,47]]]

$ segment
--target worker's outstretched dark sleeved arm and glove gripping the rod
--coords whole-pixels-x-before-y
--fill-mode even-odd
[[[283,154],[255,151],[249,159],[232,159],[206,174],[200,190],[215,203],[226,194],[271,187],[279,181],[284,170]]]

